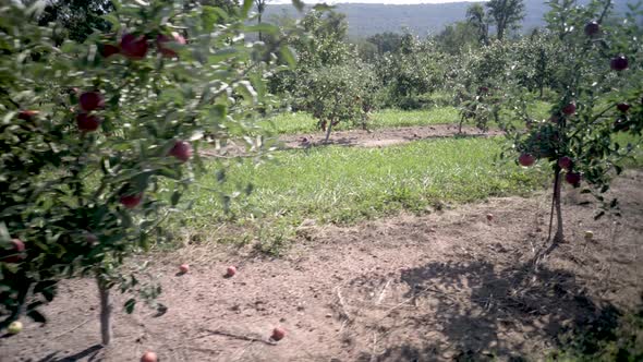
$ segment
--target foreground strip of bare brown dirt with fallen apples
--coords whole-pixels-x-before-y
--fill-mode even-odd
[[[0,360],[138,361],[145,350],[166,362],[542,360],[558,333],[640,301],[643,172],[612,190],[623,217],[595,221],[595,205],[567,189],[566,243],[538,270],[529,261],[547,237],[545,193],[348,228],[305,222],[276,260],[251,245],[159,253],[166,314],[117,309],[102,348],[94,283],[65,282],[45,310],[50,324],[0,339]],[[178,276],[180,263],[191,272]],[[226,279],[228,265],[239,273]],[[278,325],[288,335],[271,343]]]

